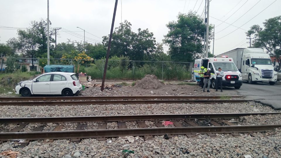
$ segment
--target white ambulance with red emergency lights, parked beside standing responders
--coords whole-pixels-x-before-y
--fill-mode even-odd
[[[210,87],[215,89],[215,79],[216,79],[216,71],[218,68],[222,68],[224,72],[224,76],[222,77],[222,86],[223,87],[234,87],[235,89],[239,89],[242,85],[242,75],[238,71],[236,65],[233,62],[232,58],[228,58],[227,56],[222,57],[214,57],[214,58],[203,58],[196,59],[194,63],[193,69],[193,80],[200,83],[200,75],[198,74],[201,66],[204,68],[211,69],[211,85]]]

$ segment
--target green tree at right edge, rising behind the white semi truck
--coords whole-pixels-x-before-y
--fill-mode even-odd
[[[265,20],[263,26],[264,28],[259,25],[251,26],[246,35],[255,37],[253,47],[266,49],[271,56],[277,59],[279,71],[281,68],[281,16]]]

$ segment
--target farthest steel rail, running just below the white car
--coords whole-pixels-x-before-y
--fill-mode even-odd
[[[132,99],[220,99],[221,96],[84,96],[84,97],[0,97],[0,101],[52,101],[52,100],[132,100]],[[239,98],[244,96],[227,96]]]

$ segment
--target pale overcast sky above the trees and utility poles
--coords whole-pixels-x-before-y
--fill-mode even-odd
[[[83,41],[83,30],[76,28],[77,26],[87,31],[85,36],[89,43],[102,41],[100,38],[110,33],[114,3],[115,0],[49,0],[51,27],[64,29],[59,30],[57,43],[66,42],[67,39]],[[273,4],[270,5],[271,3]],[[121,21],[128,20],[134,32],[137,32],[138,28],[148,28],[154,33],[156,41],[162,42],[163,36],[168,32],[166,24],[177,20],[179,12],[198,10],[198,14],[201,15],[204,5],[205,0],[119,0],[114,28],[118,27]],[[249,30],[254,24],[262,26],[265,19],[280,16],[280,6],[281,0],[211,0],[210,24],[215,24],[217,39],[215,54],[249,46],[246,43],[249,40],[246,40],[245,30]],[[262,10],[264,11],[261,12]],[[47,19],[47,0],[1,0],[0,15],[0,43],[6,43],[9,38],[17,37],[17,30],[3,29],[1,26],[26,28],[30,26],[32,20]],[[229,26],[227,23],[233,23],[232,25],[242,29]],[[65,29],[77,31],[75,33],[80,36],[75,37],[72,32],[63,32]],[[168,49],[164,46],[165,52]],[[212,49],[213,41],[211,52]]]

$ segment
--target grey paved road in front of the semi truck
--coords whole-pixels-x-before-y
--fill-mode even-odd
[[[239,95],[245,95],[245,99],[258,100],[276,110],[281,110],[281,82],[277,82],[275,85],[268,83],[250,85],[243,82],[241,88],[236,91]]]

